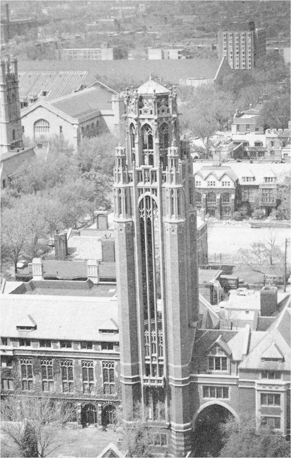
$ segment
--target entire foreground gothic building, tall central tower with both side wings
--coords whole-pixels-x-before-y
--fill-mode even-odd
[[[250,411],[286,435],[290,298],[278,306],[264,289],[257,324],[237,330],[222,328],[211,305],[201,310],[194,176],[175,91],[149,80],[125,102],[127,145],[116,149],[114,172],[117,283],[101,283],[97,262],[86,281],[43,280],[34,262],[30,282],[7,282],[2,393],[72,402],[87,424],[113,421],[121,401],[127,425],[138,404],[156,431],[156,456],[185,457],[212,408],[236,418]]]

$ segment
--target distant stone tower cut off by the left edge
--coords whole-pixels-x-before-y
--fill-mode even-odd
[[[17,60],[1,60],[1,154],[22,147]]]

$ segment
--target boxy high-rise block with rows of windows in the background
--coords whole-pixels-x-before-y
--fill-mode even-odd
[[[254,22],[249,22],[245,27],[237,25],[232,30],[218,32],[217,53],[227,58],[233,70],[254,68],[265,52],[265,29],[255,28]]]

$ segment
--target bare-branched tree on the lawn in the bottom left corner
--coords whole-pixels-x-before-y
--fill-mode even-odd
[[[17,447],[23,457],[46,457],[73,442],[63,429],[71,413],[49,398],[5,398],[1,401],[2,445]]]

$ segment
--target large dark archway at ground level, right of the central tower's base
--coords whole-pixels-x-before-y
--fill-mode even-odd
[[[208,404],[198,410],[192,435],[193,456],[218,457],[223,446],[223,424],[237,417],[231,410],[224,403]]]

